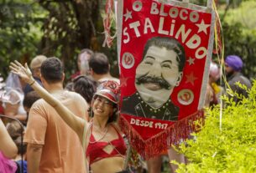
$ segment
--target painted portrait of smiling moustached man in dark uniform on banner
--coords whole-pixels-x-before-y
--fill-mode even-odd
[[[123,98],[122,113],[178,120],[180,108],[172,103],[170,94],[180,84],[184,66],[185,50],[175,38],[150,38],[136,69],[137,92]]]

